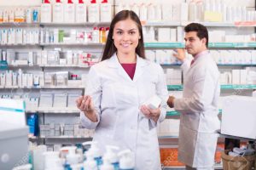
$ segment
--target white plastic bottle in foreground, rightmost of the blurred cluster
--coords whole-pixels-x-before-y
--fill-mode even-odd
[[[135,169],[135,161],[132,159],[131,150],[123,150],[120,151],[118,156],[119,160],[119,170],[134,170]]]

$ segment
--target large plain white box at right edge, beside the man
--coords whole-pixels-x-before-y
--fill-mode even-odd
[[[229,96],[224,98],[221,133],[256,139],[256,98]]]

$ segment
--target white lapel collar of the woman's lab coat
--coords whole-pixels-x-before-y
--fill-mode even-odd
[[[148,61],[146,59],[142,59],[137,55],[136,70],[135,70],[133,80],[131,80],[131,77],[129,77],[129,75],[125,72],[122,65],[119,63],[119,59],[116,53],[113,54],[113,56],[108,60],[109,67],[117,68],[120,76],[125,77],[125,79],[129,79],[129,81],[133,81],[133,82],[136,82],[137,79],[143,74],[143,71],[144,71],[143,67],[145,65],[148,65]]]

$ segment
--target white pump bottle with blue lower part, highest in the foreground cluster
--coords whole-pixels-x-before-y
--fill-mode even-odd
[[[96,144],[97,144],[96,141],[88,141],[83,143],[83,145],[90,145],[90,149],[88,151],[96,161],[97,167],[99,167],[100,165],[102,165],[102,153],[97,148]]]

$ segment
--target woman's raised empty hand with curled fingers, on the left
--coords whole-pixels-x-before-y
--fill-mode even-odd
[[[80,96],[76,100],[77,107],[80,111],[84,111],[84,115],[87,116],[90,121],[97,122],[96,111],[89,95]]]

